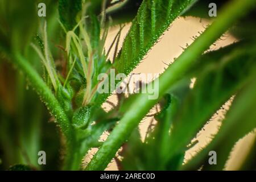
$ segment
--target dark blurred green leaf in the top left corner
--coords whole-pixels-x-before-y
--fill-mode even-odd
[[[15,2],[3,0],[0,2],[0,7],[0,42],[3,43],[1,46],[9,51],[24,50],[38,25],[36,3],[30,0]]]

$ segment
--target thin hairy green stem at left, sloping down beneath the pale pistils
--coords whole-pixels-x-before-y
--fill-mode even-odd
[[[64,113],[63,108],[60,106],[59,102],[56,100],[55,96],[48,88],[46,83],[38,75],[34,68],[28,63],[28,61],[19,53],[15,54],[13,57],[16,65],[22,72],[26,73],[28,80],[36,92],[39,94],[41,100],[47,106],[47,109],[55,117],[58,125],[63,131],[66,141],[67,141],[67,154],[65,159],[65,169],[68,169],[72,166],[72,158],[75,152],[75,134],[69,122],[67,115]]]

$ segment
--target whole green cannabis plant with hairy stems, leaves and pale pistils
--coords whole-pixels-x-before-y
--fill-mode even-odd
[[[103,170],[115,159],[124,170],[224,169],[237,141],[256,127],[256,1],[215,1],[217,16],[209,17],[211,2],[2,0],[1,168]],[[121,81],[107,79],[112,71],[129,75],[180,16],[212,23],[158,78],[139,82],[139,93],[118,92]],[[106,48],[113,27],[119,31]],[[237,42],[210,50],[226,32]],[[158,97],[150,99],[147,88]],[[106,111],[110,95],[118,102]],[[197,133],[227,101],[218,132],[184,162]],[[155,125],[142,140],[138,125],[155,107]],[[256,169],[255,142],[245,156],[239,169]]]

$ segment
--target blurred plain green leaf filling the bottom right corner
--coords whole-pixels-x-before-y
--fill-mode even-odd
[[[203,169],[205,170],[223,169],[230,151],[238,139],[256,128],[256,114],[254,111],[256,107],[255,78],[255,75],[252,76],[245,88],[237,94],[220,131],[212,142],[185,164],[183,169],[198,169],[202,165],[204,165]],[[216,165],[209,165],[208,163],[208,153],[212,150],[217,153]]]

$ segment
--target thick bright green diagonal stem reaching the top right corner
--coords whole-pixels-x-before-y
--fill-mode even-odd
[[[160,77],[159,98],[192,67],[198,56],[204,53],[216,39],[220,38],[238,18],[249,12],[255,0],[234,0],[228,3],[212,25],[189,46]],[[154,82],[150,83],[154,85]],[[150,85],[150,86],[151,86]],[[118,148],[122,146],[133,129],[158,100],[148,100],[149,94],[140,94],[100,150],[88,164],[87,170],[102,170],[108,166]]]

